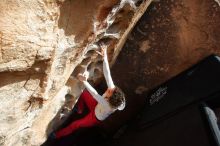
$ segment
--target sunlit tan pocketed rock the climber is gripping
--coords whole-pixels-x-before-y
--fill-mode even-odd
[[[113,64],[150,3],[1,0],[0,145],[43,143],[68,115],[62,108],[72,108],[83,89],[75,76],[88,70],[91,82],[99,80],[102,60],[96,51],[108,47]]]

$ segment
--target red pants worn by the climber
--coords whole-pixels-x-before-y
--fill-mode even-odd
[[[100,123],[95,116],[95,107],[97,105],[97,101],[92,97],[92,95],[84,90],[78,101],[78,109],[83,110],[83,104],[85,103],[88,106],[89,113],[83,117],[82,119],[76,120],[72,122],[66,128],[63,128],[56,132],[56,138],[60,138],[70,133],[76,131],[79,128],[92,127],[98,125]]]

